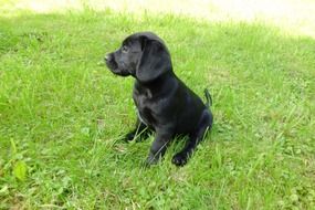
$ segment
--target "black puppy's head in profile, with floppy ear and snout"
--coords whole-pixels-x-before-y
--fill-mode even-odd
[[[114,74],[132,75],[144,83],[172,71],[164,41],[151,32],[129,35],[117,51],[105,56],[105,62]]]

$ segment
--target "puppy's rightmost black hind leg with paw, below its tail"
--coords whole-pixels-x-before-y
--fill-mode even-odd
[[[197,132],[189,135],[189,139],[186,141],[183,149],[172,157],[171,162],[176,166],[186,165],[198,144],[204,138],[208,129],[211,128],[211,125],[212,115],[208,111],[204,111]]]

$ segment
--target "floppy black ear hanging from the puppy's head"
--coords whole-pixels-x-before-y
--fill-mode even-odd
[[[136,77],[140,82],[150,82],[167,71],[171,71],[170,55],[158,40],[143,38],[140,40],[143,54],[136,70]]]

